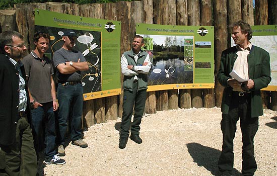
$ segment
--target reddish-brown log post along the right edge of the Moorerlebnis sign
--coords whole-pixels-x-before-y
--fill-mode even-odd
[[[131,49],[131,41],[133,34],[130,34],[130,19],[131,19],[131,3],[130,2],[117,2],[117,21],[121,21],[121,54],[125,51],[128,51]],[[121,57],[121,55],[120,55]],[[121,94],[119,98],[119,104],[118,104],[118,117],[122,117],[122,104],[123,104],[123,75],[120,76],[121,79]]]

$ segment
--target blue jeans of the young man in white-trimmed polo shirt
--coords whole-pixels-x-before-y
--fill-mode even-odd
[[[45,158],[51,159],[55,154],[55,115],[53,111],[53,103],[43,103],[43,106],[39,106],[36,109],[32,109],[32,125],[33,125],[33,134],[34,134],[34,143],[35,149],[38,154],[38,143],[39,143],[39,135],[42,130],[42,123],[45,117]]]

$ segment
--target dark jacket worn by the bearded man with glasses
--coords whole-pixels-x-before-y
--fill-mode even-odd
[[[21,67],[23,75],[26,75],[24,66]],[[27,117],[31,124],[30,99],[26,76],[23,76],[27,92]],[[4,54],[0,54],[0,146],[11,145],[16,141],[16,127],[19,120],[19,71]]]

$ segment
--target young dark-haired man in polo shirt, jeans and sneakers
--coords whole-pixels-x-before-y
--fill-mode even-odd
[[[44,55],[49,48],[50,36],[45,32],[34,35],[35,49],[22,60],[26,79],[29,85],[29,96],[32,106],[32,125],[36,153],[40,151],[40,137],[42,123],[45,121],[45,164],[64,164],[56,154],[55,147],[55,115],[58,109],[55,82],[53,80],[53,66],[50,59]],[[44,120],[45,117],[45,120]]]

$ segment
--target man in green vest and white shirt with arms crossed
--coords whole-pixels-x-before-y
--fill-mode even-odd
[[[141,50],[142,46],[144,46],[144,38],[136,35],[133,38],[132,49],[124,52],[121,57],[121,72],[124,75],[123,114],[119,138],[119,148],[121,149],[126,147],[130,126],[130,139],[138,144],[143,142],[140,138],[140,124],[147,97],[146,90],[151,61],[149,54]],[[133,122],[130,124],[133,106],[134,116]]]

